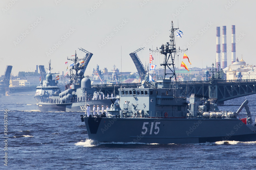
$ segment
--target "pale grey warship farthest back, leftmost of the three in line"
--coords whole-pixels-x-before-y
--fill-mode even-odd
[[[37,103],[41,101],[41,98],[49,98],[53,94],[61,93],[61,89],[58,86],[59,76],[57,76],[54,80],[52,80],[52,76],[55,76],[59,73],[51,73],[51,60],[49,61],[49,67],[47,68],[48,74],[46,75],[46,79],[40,76],[40,85],[36,87],[36,93],[34,98],[36,99]]]

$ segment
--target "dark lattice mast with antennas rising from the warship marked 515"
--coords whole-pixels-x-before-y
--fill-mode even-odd
[[[152,50],[152,51],[160,52],[161,54],[164,55],[164,61],[163,61],[162,64],[160,64],[161,66],[164,66],[164,79],[165,79],[165,76],[167,74],[170,74],[169,79],[172,79],[173,77],[175,77],[175,81],[176,82],[177,82],[177,80],[176,80],[176,74],[175,74],[175,69],[174,69],[175,55],[176,55],[177,52],[182,52],[182,51],[186,51],[187,50],[187,49],[181,50],[180,48],[176,49],[174,32],[176,30],[178,30],[178,29],[179,28],[173,28],[173,21],[172,21],[171,30],[169,30],[171,32],[170,33],[170,42],[167,42],[165,45],[162,44],[161,48],[159,50],[158,49],[157,50]],[[168,57],[167,57],[167,55],[168,55]],[[169,66],[173,66],[173,67],[171,68]],[[167,73],[166,72],[166,67],[167,67],[167,69],[169,68],[171,73]]]

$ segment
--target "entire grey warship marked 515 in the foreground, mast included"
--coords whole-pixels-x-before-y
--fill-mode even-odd
[[[138,88],[119,88],[119,105],[112,104],[111,115],[81,115],[89,139],[99,142],[140,143],[203,143],[216,141],[256,141],[256,122],[253,124],[248,101],[237,112],[220,111],[217,104],[202,96],[187,98],[179,94],[174,76],[176,50],[174,31],[171,27],[170,44],[161,45],[165,55],[164,79],[149,81],[145,76]],[[169,54],[169,57],[167,56]],[[172,62],[168,62],[168,59]],[[169,79],[165,79],[166,66],[173,66]],[[247,117],[238,119],[243,107]],[[115,111],[113,111],[115,110]]]

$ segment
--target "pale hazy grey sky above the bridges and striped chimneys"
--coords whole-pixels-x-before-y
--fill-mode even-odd
[[[172,21],[184,34],[175,38],[176,46],[188,47],[191,67],[205,68],[215,62],[216,27],[221,27],[222,44],[223,25],[227,26],[227,47],[231,47],[231,25],[236,25],[236,56],[240,60],[243,55],[246,63],[256,65],[256,1],[252,0],[2,0],[0,5],[0,75],[6,65],[12,65],[17,75],[35,71],[36,65],[47,67],[50,59],[52,71],[65,74],[67,56],[75,51],[78,57],[84,56],[78,48],[93,53],[88,75],[97,64],[109,71],[115,64],[121,71],[121,55],[122,71],[136,72],[129,54],[146,46],[138,53],[145,66],[149,48],[169,41]],[[176,58],[179,65],[182,56]],[[159,68],[162,56],[153,57]],[[231,50],[227,59],[231,64]]]

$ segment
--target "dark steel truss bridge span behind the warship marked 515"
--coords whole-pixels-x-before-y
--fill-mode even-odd
[[[118,94],[120,87],[132,88],[140,86],[140,83],[103,84],[92,85],[93,88],[101,90],[105,95]],[[189,97],[191,94],[204,95],[209,98],[217,98],[217,104],[224,101],[256,94],[256,79],[252,80],[209,80],[209,81],[183,81],[177,82],[177,87],[182,96]]]

